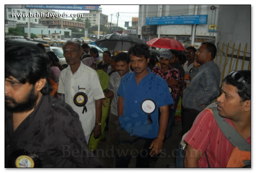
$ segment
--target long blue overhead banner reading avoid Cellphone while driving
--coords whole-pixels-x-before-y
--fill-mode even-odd
[[[26,9],[99,10],[100,5],[25,5]]]

